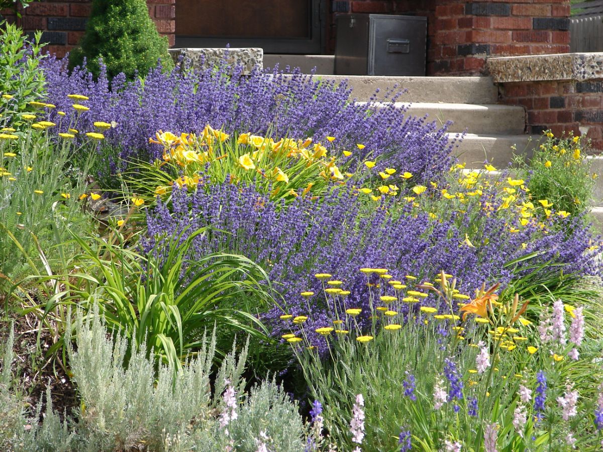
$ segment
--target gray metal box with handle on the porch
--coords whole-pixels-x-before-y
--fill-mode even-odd
[[[335,74],[425,75],[427,17],[337,14]]]

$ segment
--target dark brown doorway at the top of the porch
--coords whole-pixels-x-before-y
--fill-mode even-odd
[[[320,54],[325,0],[178,0],[177,47]]]

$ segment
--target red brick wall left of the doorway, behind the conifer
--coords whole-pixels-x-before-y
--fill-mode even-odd
[[[5,13],[8,20],[16,22],[27,33],[44,30],[42,42],[49,43],[46,49],[64,57],[83,35],[91,6],[91,0],[45,0],[21,8],[20,18],[9,14],[10,11],[0,13]],[[147,0],[147,6],[159,33],[168,36],[169,45],[174,45],[175,0]]]

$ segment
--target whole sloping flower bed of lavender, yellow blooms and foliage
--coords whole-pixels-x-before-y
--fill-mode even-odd
[[[81,404],[22,413],[8,340],[0,444],[600,447],[599,239],[587,194],[545,183],[590,177],[581,139],[467,171],[445,128],[300,74],[42,66],[43,102],[2,97],[0,272]],[[109,198],[95,229],[81,210]],[[251,390],[267,369],[281,386]]]

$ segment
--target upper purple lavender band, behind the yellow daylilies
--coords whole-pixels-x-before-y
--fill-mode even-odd
[[[54,111],[75,116],[67,95],[88,96],[83,104],[90,111],[80,114],[81,131],[92,131],[94,121],[117,124],[104,133],[104,148],[119,149],[120,161],[110,162],[113,172],[118,163],[160,158],[160,146],[148,142],[156,131],[198,133],[207,124],[227,133],[251,131],[275,139],[312,136],[324,141],[326,136],[336,136],[343,149],[357,151],[356,143],[365,146],[362,155],[356,152],[351,159],[387,154],[388,165],[405,168],[418,180],[437,177],[450,163],[453,145],[447,141],[446,125],[439,128],[427,118],[405,118],[393,105],[371,110],[350,102],[346,83],[276,69],[247,76],[239,67],[227,74],[226,63],[213,71],[169,74],[157,67],[144,80],[128,83],[118,75],[109,83],[105,71],[93,80],[86,69],[69,73],[65,64],[55,58],[43,61],[48,100],[57,105]],[[68,121],[57,113],[52,112],[49,120],[68,128]],[[377,165],[379,171],[379,165],[385,168],[385,163]]]

